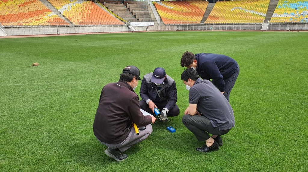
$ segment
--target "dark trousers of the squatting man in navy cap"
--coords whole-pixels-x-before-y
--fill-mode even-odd
[[[158,107],[160,112],[163,110],[163,108],[168,103],[167,101],[161,101],[161,102],[153,101],[153,102]],[[149,114],[152,114],[153,116],[155,116],[153,114],[152,110],[149,108],[149,105],[144,100],[140,100],[139,104],[140,104],[141,109],[143,109],[146,112],[148,112]],[[176,104],[174,105],[174,107],[172,109],[168,109],[168,110],[169,110],[169,112],[167,113],[168,117],[174,117],[174,116],[177,116],[177,115],[180,114],[180,108]]]

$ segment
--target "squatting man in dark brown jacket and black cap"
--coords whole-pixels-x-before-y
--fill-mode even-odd
[[[134,91],[139,76],[137,67],[125,67],[120,80],[105,85],[99,98],[93,132],[97,140],[108,147],[106,155],[116,161],[126,159],[128,155],[123,152],[152,133],[151,122],[156,120],[154,116],[144,116],[140,111],[139,97]],[[132,122],[139,127],[145,126],[145,129],[136,135]]]

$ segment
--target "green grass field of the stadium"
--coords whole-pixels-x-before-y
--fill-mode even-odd
[[[308,171],[308,32],[143,32],[0,39],[0,171]],[[225,54],[240,65],[231,92],[235,127],[219,151],[181,122],[184,51]],[[39,66],[28,67],[34,62]],[[103,86],[127,65],[163,67],[180,115],[116,162],[93,135]],[[139,94],[141,82],[136,89]]]

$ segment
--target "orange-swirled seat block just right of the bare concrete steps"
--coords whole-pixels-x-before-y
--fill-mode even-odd
[[[200,24],[208,4],[200,0],[154,2],[164,24]]]

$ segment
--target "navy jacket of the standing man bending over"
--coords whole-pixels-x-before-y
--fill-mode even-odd
[[[197,69],[202,79],[210,80],[219,89],[225,91],[224,79],[229,78],[238,68],[237,62],[226,55],[200,53],[195,54]]]

